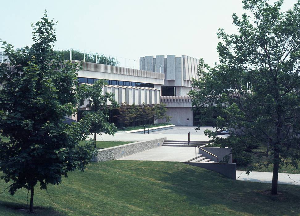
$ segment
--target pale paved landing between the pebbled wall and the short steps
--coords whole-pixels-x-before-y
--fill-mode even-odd
[[[195,157],[195,147],[161,146],[117,160],[187,161]]]

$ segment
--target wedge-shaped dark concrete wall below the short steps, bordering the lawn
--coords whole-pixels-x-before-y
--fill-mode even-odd
[[[219,172],[222,175],[236,180],[236,164],[235,163],[197,163],[197,162],[183,162],[196,167],[205,168],[211,171]]]

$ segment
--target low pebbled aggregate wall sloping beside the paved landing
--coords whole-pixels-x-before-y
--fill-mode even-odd
[[[143,152],[151,148],[160,147],[165,139],[167,138],[140,141],[110,148],[99,149],[93,161],[101,162],[106,160],[114,160],[135,153]]]

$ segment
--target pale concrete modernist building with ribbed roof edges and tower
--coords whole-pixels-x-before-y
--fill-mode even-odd
[[[0,61],[6,57],[0,52]],[[98,79],[106,80],[103,92],[114,93],[114,99],[119,104],[154,106],[162,102],[168,108],[167,114],[172,116],[170,123],[193,126],[197,122],[187,93],[192,89],[192,78],[199,79],[198,66],[199,59],[190,56],[145,56],[140,58],[139,70],[83,62],[82,69],[77,73],[80,84],[93,85]],[[81,109],[88,110],[86,104]],[[114,119],[114,115],[111,112],[110,119]],[[77,121],[77,116],[69,118]]]

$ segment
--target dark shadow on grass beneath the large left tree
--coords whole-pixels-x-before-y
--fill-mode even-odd
[[[0,208],[3,207],[7,209],[10,213],[15,213],[18,215],[28,215],[29,212],[29,206],[23,205],[20,203],[15,202],[7,202],[7,201],[0,201]],[[67,213],[55,210],[52,207],[42,207],[42,206],[35,206],[33,207],[33,213],[35,215],[41,215],[41,216],[67,216]]]

